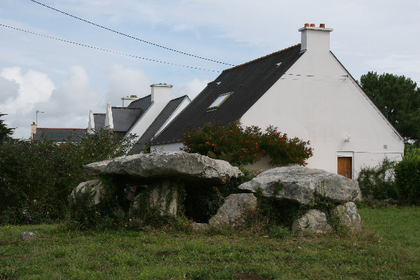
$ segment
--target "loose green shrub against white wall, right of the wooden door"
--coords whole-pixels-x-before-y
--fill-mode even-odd
[[[373,199],[398,199],[394,181],[395,162],[384,158],[377,167],[363,167],[358,174],[358,183],[362,195]]]

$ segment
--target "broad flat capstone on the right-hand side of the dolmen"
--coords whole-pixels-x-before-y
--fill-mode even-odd
[[[261,188],[265,196],[271,197],[276,186],[277,190],[281,188],[275,195],[277,199],[302,204],[309,204],[316,195],[334,203],[348,202],[360,191],[356,180],[321,169],[296,166],[269,169],[239,188],[252,192]]]

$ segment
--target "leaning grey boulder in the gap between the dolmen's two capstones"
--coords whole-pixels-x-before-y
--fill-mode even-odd
[[[245,225],[253,218],[256,210],[257,198],[252,193],[229,195],[217,214],[210,218],[209,225],[215,228]]]

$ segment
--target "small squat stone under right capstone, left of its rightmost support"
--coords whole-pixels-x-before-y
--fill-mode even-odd
[[[292,224],[292,232],[302,230],[304,232],[325,233],[332,230],[327,223],[327,216],[316,209],[311,209],[297,222]]]

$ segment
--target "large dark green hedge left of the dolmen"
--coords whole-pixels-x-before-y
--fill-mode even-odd
[[[0,223],[41,223],[64,218],[67,197],[87,181],[83,165],[125,155],[134,137],[108,130],[57,144],[9,139],[0,145]]]

